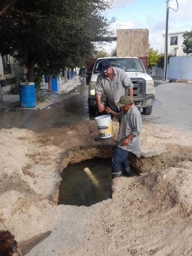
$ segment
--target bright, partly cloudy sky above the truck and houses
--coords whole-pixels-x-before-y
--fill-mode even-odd
[[[110,1],[110,0],[105,0]],[[169,32],[190,31],[192,29],[192,0],[170,0]],[[162,52],[162,34],[165,34],[166,0],[114,0],[111,8],[104,13],[108,20],[114,17],[111,30],[116,35],[117,29],[148,28],[149,44]],[[111,52],[116,42],[106,43],[98,49]]]

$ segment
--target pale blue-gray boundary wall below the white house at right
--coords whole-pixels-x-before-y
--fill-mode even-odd
[[[168,64],[168,78],[192,80],[191,67],[192,55],[170,57]],[[164,71],[162,68],[157,68],[157,76],[164,76]]]

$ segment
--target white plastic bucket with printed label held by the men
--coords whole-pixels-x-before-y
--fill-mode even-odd
[[[112,137],[114,135],[114,131],[112,129],[112,120],[111,115],[100,115],[95,118],[97,123],[97,128],[99,130],[99,137],[101,139],[106,139]]]

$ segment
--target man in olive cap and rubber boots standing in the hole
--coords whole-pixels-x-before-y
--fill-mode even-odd
[[[118,145],[111,160],[113,178],[122,175],[121,165],[124,174],[131,175],[128,152],[140,151],[142,126],[141,114],[129,96],[122,96],[116,106],[120,108],[120,113],[106,107],[107,114],[112,114],[120,120]]]

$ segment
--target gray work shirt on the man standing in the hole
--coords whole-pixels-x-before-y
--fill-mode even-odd
[[[118,119],[121,121],[118,135],[118,147],[132,152],[140,151],[142,119],[139,110],[136,106],[132,105],[128,112],[125,113],[122,110],[118,115]],[[132,141],[128,143],[127,146],[122,146],[121,143],[123,139],[130,134],[134,134],[135,137],[132,138]]]

